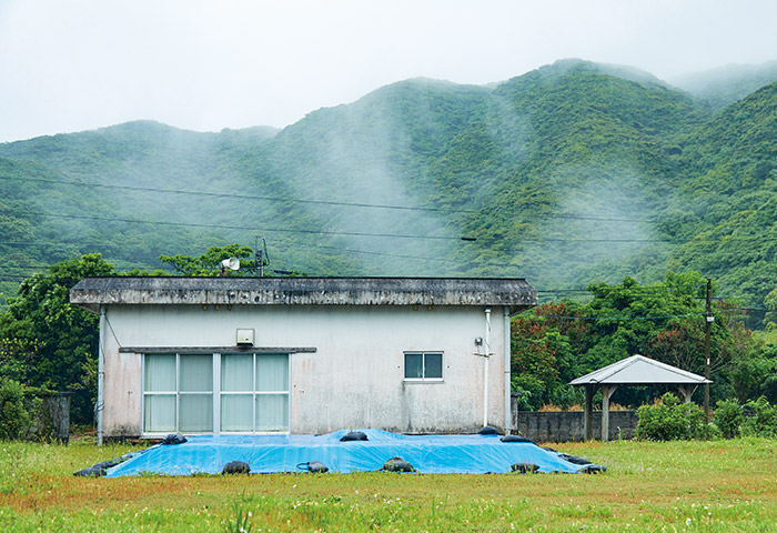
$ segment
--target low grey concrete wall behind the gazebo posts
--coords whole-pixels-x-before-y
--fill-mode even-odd
[[[569,442],[585,440],[585,413],[582,411],[513,411],[514,426],[534,442]],[[593,413],[594,439],[602,438],[602,412]],[[609,440],[633,439],[637,429],[635,411],[609,412]]]

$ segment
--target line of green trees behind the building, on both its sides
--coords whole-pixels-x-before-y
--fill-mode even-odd
[[[162,255],[178,275],[218,275],[221,260],[239,257],[251,269],[251,248],[212,248],[203,255]],[[118,272],[100,254],[61,261],[44,274],[24,280],[0,315],[0,382],[37,390],[70,391],[71,419],[93,421],[97,395],[98,316],[69,303],[69,290],[87,276],[171,275]],[[242,275],[238,272],[236,275]],[[265,273],[265,275],[272,275]],[[715,289],[715,284],[713,284]],[[642,285],[632,278],[618,284],[591,284],[587,302],[563,299],[544,303],[512,321],[512,389],[521,409],[582,403],[568,382],[636,353],[704,373],[706,279],[697,272],[666,274]],[[777,299],[767,312],[767,329],[777,325]],[[747,310],[715,300],[712,324],[713,402],[745,403],[765,396],[777,402],[777,345],[745,326]],[[664,391],[623,389],[614,401],[636,406]]]

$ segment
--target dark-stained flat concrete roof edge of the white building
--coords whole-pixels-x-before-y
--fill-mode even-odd
[[[507,305],[537,304],[524,279],[494,278],[85,278],[70,303],[101,305]]]

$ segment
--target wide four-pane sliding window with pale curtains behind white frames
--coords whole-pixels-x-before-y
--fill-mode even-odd
[[[147,354],[143,432],[289,431],[289,354]]]

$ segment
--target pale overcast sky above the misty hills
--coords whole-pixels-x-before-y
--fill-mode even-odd
[[[659,78],[777,59],[775,0],[0,0],[0,142],[151,119],[285,127],[557,59]]]

